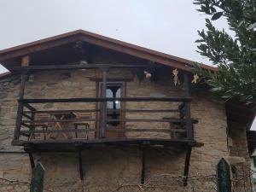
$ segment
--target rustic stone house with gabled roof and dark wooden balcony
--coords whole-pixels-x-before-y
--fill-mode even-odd
[[[222,157],[249,165],[255,108],[195,84],[192,61],[79,30],[3,49],[0,62],[0,180],[29,182],[38,160],[63,192],[212,174]]]

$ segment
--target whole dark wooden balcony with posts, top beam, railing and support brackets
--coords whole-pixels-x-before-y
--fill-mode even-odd
[[[189,73],[183,73],[184,94],[179,98],[125,97],[108,98],[108,71],[112,68],[144,68],[145,65],[79,64],[14,68],[20,75],[20,96],[15,125],[14,145],[24,146],[32,167],[37,152],[73,152],[79,154],[79,172],[83,179],[82,151],[96,146],[137,146],[142,151],[142,183],[145,175],[145,151],[148,147],[175,146],[186,151],[184,184],[189,174],[194,140],[189,98]],[[28,74],[42,70],[102,71],[101,95],[96,98],[24,99]],[[112,77],[113,78],[113,77]],[[100,98],[99,98],[100,97]],[[120,108],[108,103],[120,102]],[[46,104],[50,103],[46,107]],[[50,106],[50,107],[49,107]]]

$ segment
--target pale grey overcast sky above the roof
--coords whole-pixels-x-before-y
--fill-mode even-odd
[[[196,50],[205,17],[192,0],[0,0],[0,49],[83,29],[211,65]],[[225,20],[214,25],[227,29]],[[6,70],[0,66],[0,73]],[[256,129],[256,125],[255,125]]]

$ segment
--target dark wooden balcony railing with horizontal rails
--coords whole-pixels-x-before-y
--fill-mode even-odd
[[[190,117],[190,101],[184,97],[22,99],[18,100],[15,141],[116,137],[194,140],[196,121]],[[110,109],[108,102],[120,102],[121,107]],[[46,103],[55,108],[42,110]]]

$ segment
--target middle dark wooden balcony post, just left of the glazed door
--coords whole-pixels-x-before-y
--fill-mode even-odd
[[[102,69],[102,98],[107,97],[107,74],[108,67],[101,67]],[[106,137],[106,124],[107,124],[107,102],[101,103],[101,128],[100,128],[100,137]]]

